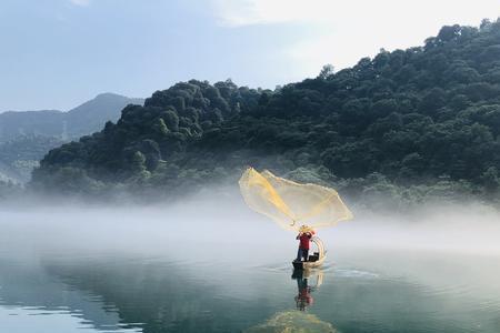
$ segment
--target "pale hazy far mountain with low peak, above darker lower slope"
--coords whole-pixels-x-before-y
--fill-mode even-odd
[[[7,111],[0,113],[0,143],[26,135],[78,139],[100,130],[109,120],[118,120],[128,104],[142,103],[142,99],[102,93],[68,112]]]

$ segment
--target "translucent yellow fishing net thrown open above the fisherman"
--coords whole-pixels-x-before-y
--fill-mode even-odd
[[[332,226],[352,219],[352,213],[333,189],[299,184],[267,170],[260,173],[252,168],[244,171],[239,184],[244,201],[252,210],[288,230]]]

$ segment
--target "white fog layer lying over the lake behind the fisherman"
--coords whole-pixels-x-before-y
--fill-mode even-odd
[[[352,221],[318,230],[327,249],[500,254],[500,214],[486,205],[422,206],[408,214],[374,214],[354,205]],[[0,226],[0,246],[17,248],[19,253],[32,250],[54,255],[68,251],[161,254],[186,246],[193,259],[198,250],[199,255],[210,255],[203,246],[219,246],[224,249],[222,253],[230,249],[230,256],[234,258],[238,252],[258,246],[279,259],[283,253],[293,256],[296,249],[293,233],[250,211],[237,193],[221,198],[203,194],[154,206],[24,204],[1,208]]]

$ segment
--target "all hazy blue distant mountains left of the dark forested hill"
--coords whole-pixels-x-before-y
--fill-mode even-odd
[[[26,182],[49,150],[117,121],[128,104],[143,104],[114,93],[102,93],[68,112],[57,110],[0,113],[0,180]]]

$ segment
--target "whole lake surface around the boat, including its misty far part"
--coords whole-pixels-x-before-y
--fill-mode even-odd
[[[271,224],[188,236],[158,215],[64,214],[0,214],[1,333],[500,332],[494,254],[336,241],[347,225],[300,274],[293,235]]]

